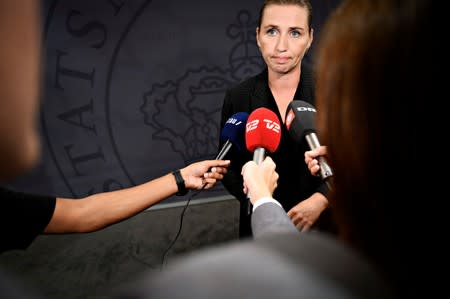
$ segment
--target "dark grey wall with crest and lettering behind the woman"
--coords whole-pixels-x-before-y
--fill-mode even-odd
[[[9,187],[70,198],[126,188],[217,153],[225,89],[263,68],[261,0],[43,1],[42,159]],[[315,38],[337,0],[312,1]],[[314,63],[314,44],[306,61]],[[47,298],[100,297],[176,254],[237,238],[221,184],[105,230],[40,236],[0,264]],[[169,247],[180,228],[181,234]]]

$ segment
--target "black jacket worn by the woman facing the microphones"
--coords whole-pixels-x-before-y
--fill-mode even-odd
[[[302,64],[301,68],[300,83],[293,100],[302,100],[314,105],[314,77],[312,69],[304,64]],[[260,107],[273,111],[278,116],[281,124],[281,114],[269,88],[267,69],[243,81],[238,86],[227,90],[222,106],[220,125],[223,127],[228,118],[237,112],[250,114],[253,110]],[[311,175],[305,164],[304,153],[309,150],[306,140],[303,140],[301,143],[295,142],[289,135],[286,126],[282,125],[281,127],[280,144],[274,153],[268,153],[267,155],[270,155],[276,163],[276,171],[280,175],[278,187],[275,189],[273,196],[283,205],[287,212],[313,193],[326,194],[328,190],[326,184],[320,178]],[[222,142],[219,148],[221,147]],[[225,188],[241,202],[240,235],[246,236],[250,234],[250,216],[247,215],[247,197],[242,190],[241,169],[247,161],[253,159],[253,153],[248,150],[238,152],[232,148],[226,159],[230,159],[231,164],[222,182]],[[315,227],[331,230],[330,225],[328,213],[322,213],[319,223]]]

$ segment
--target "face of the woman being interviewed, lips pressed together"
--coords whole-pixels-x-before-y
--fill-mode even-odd
[[[299,69],[311,46],[308,10],[298,5],[269,5],[265,8],[261,27],[256,28],[256,41],[270,72],[286,74]]]

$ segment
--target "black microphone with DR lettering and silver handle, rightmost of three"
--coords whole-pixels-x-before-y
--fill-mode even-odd
[[[315,128],[315,115],[316,108],[313,105],[299,100],[290,102],[286,110],[286,127],[292,139],[300,143],[304,137],[310,149],[315,149],[320,146]],[[322,180],[327,180],[333,175],[333,171],[325,157],[317,157],[317,160],[320,167],[320,177]],[[328,181],[327,185],[331,190]]]

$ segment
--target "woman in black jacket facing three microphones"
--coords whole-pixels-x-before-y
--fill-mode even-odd
[[[313,41],[311,23],[312,7],[308,0],[264,1],[256,40],[267,68],[226,92],[221,127],[234,113],[250,114],[260,107],[272,110],[280,123],[284,123],[287,106],[292,100],[314,104],[313,73],[302,63]],[[307,150],[306,141],[296,143],[282,126],[280,144],[270,154],[280,175],[274,196],[299,230],[316,227],[331,231],[328,215],[323,213],[328,206],[328,190],[318,177],[311,176],[303,162]],[[252,153],[231,152],[228,158],[231,165],[223,184],[241,202],[240,236],[245,237],[251,234],[250,216],[240,173],[244,163],[252,160]]]

